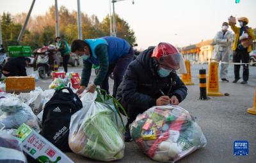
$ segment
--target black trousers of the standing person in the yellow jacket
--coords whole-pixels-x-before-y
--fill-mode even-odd
[[[246,50],[236,50],[234,52],[233,56],[233,62],[234,63],[249,63],[250,61],[250,55]],[[240,66],[241,65],[234,65],[234,73],[235,73],[235,79],[240,79],[239,77],[239,71],[240,71]],[[249,79],[249,65],[243,65],[243,80],[248,81]]]

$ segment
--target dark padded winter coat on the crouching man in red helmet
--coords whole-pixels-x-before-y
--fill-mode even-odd
[[[140,108],[145,111],[156,105],[157,98],[163,96],[163,93],[169,97],[175,95],[179,102],[186,98],[188,89],[176,73],[171,72],[168,77],[157,75],[157,65],[150,57],[153,50],[143,51],[130,63],[118,88],[116,97],[131,109]]]

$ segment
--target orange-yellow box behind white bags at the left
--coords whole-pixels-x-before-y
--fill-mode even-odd
[[[7,77],[6,92],[29,92],[35,90],[35,77]]]

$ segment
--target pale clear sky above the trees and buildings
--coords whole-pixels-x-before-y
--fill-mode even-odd
[[[31,0],[0,0],[0,13],[28,12]],[[54,0],[36,0],[31,15],[44,14]],[[77,10],[76,0],[58,0],[58,6]],[[256,0],[132,0],[115,3],[115,12],[134,30],[140,48],[159,42],[186,46],[214,37],[230,15],[246,16],[256,27]],[[81,0],[81,12],[102,20],[109,0]]]

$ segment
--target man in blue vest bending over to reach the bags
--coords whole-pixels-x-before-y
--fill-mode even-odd
[[[109,94],[108,78],[113,72],[113,97],[115,97],[125,70],[134,58],[134,50],[131,45],[121,38],[106,36],[96,39],[74,40],[71,51],[83,58],[81,88],[77,93],[83,93],[86,87],[88,87],[88,92],[93,93],[95,88],[100,86]],[[88,86],[92,65],[99,65],[100,70],[93,84]]]

